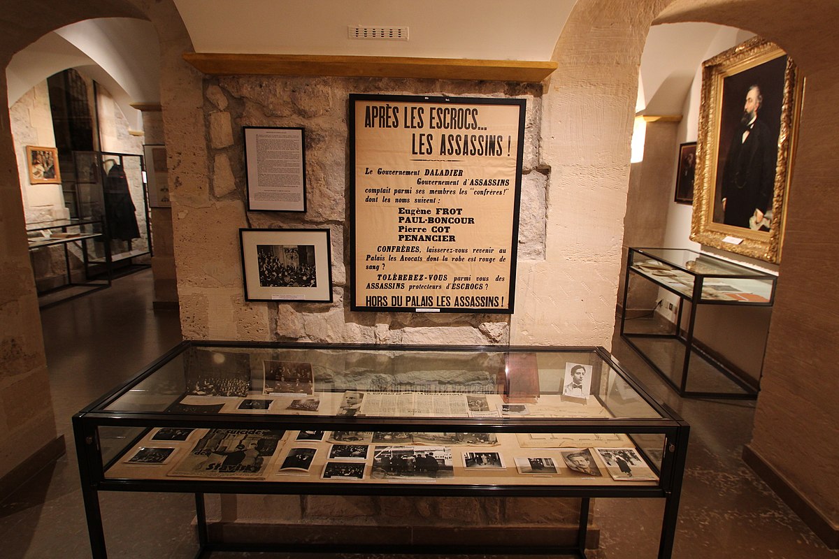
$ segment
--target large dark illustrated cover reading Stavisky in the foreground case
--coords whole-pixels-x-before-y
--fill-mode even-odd
[[[169,475],[262,479],[284,434],[268,429],[210,429]]]

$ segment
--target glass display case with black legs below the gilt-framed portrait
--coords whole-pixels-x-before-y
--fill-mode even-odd
[[[673,328],[664,332],[629,331],[628,298],[633,277],[644,278],[679,298]],[[623,289],[621,336],[680,396],[754,398],[757,387],[745,375],[738,375],[731,366],[697,347],[694,338],[696,312],[700,305],[771,307],[776,281],[777,277],[772,274],[696,251],[630,248]],[[692,355],[701,359],[693,368]],[[709,370],[713,374],[709,375]]]

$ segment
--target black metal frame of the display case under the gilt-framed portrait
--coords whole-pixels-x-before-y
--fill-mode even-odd
[[[715,274],[715,273],[700,273],[694,272],[687,267],[682,267],[678,263],[674,261],[669,261],[662,256],[655,254],[654,251],[682,251],[685,253],[695,254],[697,257],[701,257],[705,259],[705,261],[709,262],[718,262],[725,267],[736,267],[742,270],[742,273],[739,274]],[[636,256],[644,256],[644,258],[654,259],[655,261],[659,261],[673,267],[675,270],[679,270],[681,272],[686,272],[693,276],[693,287],[690,289],[690,295],[685,294],[674,287],[670,287],[664,282],[656,280],[654,277],[651,277],[647,274],[639,272],[633,264],[636,261]],[[679,298],[679,303],[676,309],[676,322],[675,322],[675,332],[674,333],[628,333],[626,331],[626,323],[627,323],[627,301],[629,295],[629,288],[630,288],[630,278],[634,276],[642,277],[645,280],[654,283],[656,286],[675,294]],[[706,278],[718,278],[718,277],[725,277],[726,279],[758,279],[761,281],[771,282],[772,288],[769,294],[769,299],[766,302],[752,302],[752,301],[721,301],[721,300],[712,300],[708,298],[703,298],[702,290]],[[679,396],[684,398],[722,398],[722,399],[738,399],[738,400],[753,400],[758,397],[758,386],[754,386],[752,383],[748,382],[743,378],[743,375],[738,375],[735,370],[732,370],[731,367],[722,363],[721,360],[715,359],[712,355],[709,355],[704,349],[701,349],[697,346],[696,339],[694,337],[695,325],[696,325],[696,312],[697,309],[701,305],[721,305],[721,306],[748,306],[748,307],[772,307],[774,303],[774,292],[775,292],[775,283],[777,282],[777,277],[773,276],[772,274],[759,272],[758,270],[754,270],[753,268],[739,266],[738,264],[722,260],[722,258],[717,258],[715,256],[710,256],[701,252],[690,251],[689,249],[666,249],[666,248],[648,248],[648,247],[630,247],[628,250],[627,256],[627,267],[626,273],[624,277],[624,284],[623,284],[623,308],[621,309],[621,338],[635,350],[638,355],[649,365],[662,379],[664,379],[667,384],[673,388],[676,392],[679,393]],[[684,319],[685,313],[685,303],[689,305],[688,309],[688,317],[686,322],[686,328],[682,329],[682,323]],[[647,354],[647,352],[636,344],[633,340],[634,339],[672,339],[676,342],[679,342],[684,346],[685,356],[681,363],[681,376],[678,382],[671,378],[670,375],[659,367],[658,364]],[[705,360],[708,365],[711,365],[714,369],[718,370],[722,375],[726,376],[727,379],[731,380],[733,385],[736,386],[739,391],[737,392],[722,392],[722,391],[691,391],[688,390],[688,377],[690,371],[690,358],[691,355],[696,354],[702,360]]]

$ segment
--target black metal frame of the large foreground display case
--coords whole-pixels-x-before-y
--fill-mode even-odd
[[[591,352],[600,357],[616,373],[626,380],[659,418],[529,418],[519,417],[336,417],[336,416],[283,416],[264,415],[248,416],[244,414],[189,414],[172,412],[132,412],[107,410],[107,406],[127,393],[142,380],[154,375],[163,365],[174,359],[190,347],[197,348],[269,348],[269,349],[336,349],[347,350],[422,350],[456,352],[545,352],[577,351]],[[397,430],[424,432],[496,432],[496,433],[597,433],[618,432],[633,434],[654,434],[664,437],[661,465],[637,447],[638,452],[653,468],[659,480],[655,484],[620,487],[615,485],[527,485],[527,484],[410,484],[388,483],[372,484],[358,482],[294,482],[294,481],[250,481],[234,479],[112,479],[105,473],[113,463],[135,443],[143,434],[135,437],[125,449],[105,462],[99,438],[99,427],[145,427],[143,434],[154,427],[224,427],[248,429],[284,429],[301,430],[352,430],[376,431]],[[107,551],[102,527],[102,510],[99,504],[100,491],[140,491],[172,492],[195,494],[195,513],[197,519],[197,558],[206,558],[215,551],[307,551],[307,552],[347,552],[345,545],[333,544],[257,544],[248,542],[211,541],[205,510],[205,494],[329,494],[329,495],[400,495],[408,497],[573,497],[581,498],[581,510],[577,526],[576,544],[571,547],[541,546],[417,546],[401,545],[365,545],[352,546],[352,551],[367,553],[492,553],[492,554],[539,554],[560,553],[586,557],[586,534],[590,499],[604,498],[659,498],[664,499],[659,538],[659,559],[669,559],[674,544],[677,526],[682,478],[685,470],[685,457],[690,433],[689,425],[674,411],[664,404],[659,404],[641,386],[637,380],[613,360],[602,347],[550,347],[550,346],[406,346],[373,344],[279,344],[248,342],[196,342],[185,341],[169,350],[165,355],[147,366],[141,373],[122,386],[102,396],[86,406],[73,417],[73,430],[76,453],[81,474],[81,488],[85,503],[86,519],[94,559],[105,559]],[[503,527],[499,528],[503,530]]]

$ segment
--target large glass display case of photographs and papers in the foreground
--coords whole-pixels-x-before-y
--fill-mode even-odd
[[[199,556],[270,549],[210,541],[205,493],[577,497],[576,545],[550,550],[577,556],[589,499],[661,498],[670,557],[689,433],[602,348],[220,342],[73,425],[96,558],[103,490],[195,494]]]

